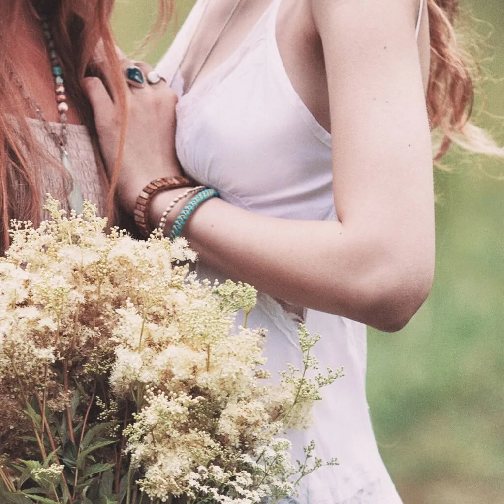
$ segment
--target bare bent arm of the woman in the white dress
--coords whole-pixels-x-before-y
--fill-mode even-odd
[[[340,222],[265,217],[212,200],[184,228],[202,260],[261,291],[385,331],[411,318],[428,294],[434,263],[430,136],[415,4],[311,0],[326,54]],[[104,96],[93,87],[103,143],[110,119],[100,105]],[[176,169],[146,154],[152,139],[141,138],[139,121],[158,113],[148,96],[131,98],[138,133],[128,144],[144,153],[135,168],[123,168],[122,176],[132,177],[124,193],[130,210],[141,186]],[[137,155],[127,149],[131,164]],[[172,197],[154,199],[153,223]]]

